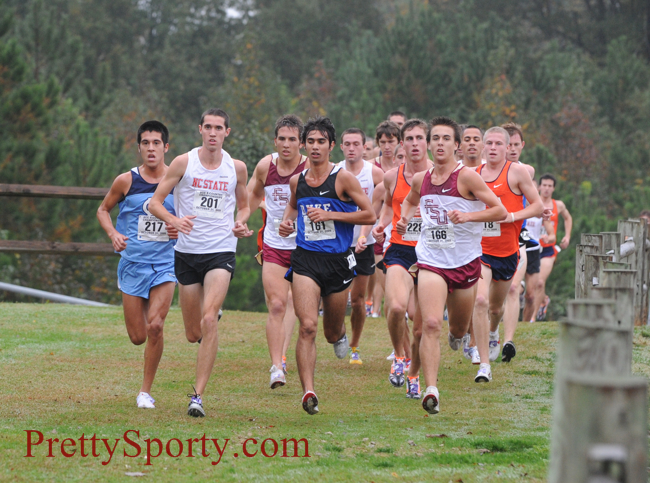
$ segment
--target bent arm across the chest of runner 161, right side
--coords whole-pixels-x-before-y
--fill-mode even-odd
[[[351,225],[373,225],[377,221],[370,203],[370,198],[361,189],[359,180],[349,171],[341,170],[336,177],[336,192],[339,198],[350,198],[359,208],[357,211],[346,213],[342,211],[325,211],[321,208],[308,208],[307,216],[314,222],[342,221]]]

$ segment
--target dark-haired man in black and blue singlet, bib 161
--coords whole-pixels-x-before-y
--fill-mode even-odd
[[[310,119],[302,133],[310,168],[289,182],[291,198],[279,233],[293,233],[296,220],[296,249],[291,254],[287,280],[293,283],[300,335],[296,346],[298,373],[304,395],[302,407],[318,412],[314,393],[318,305],[323,298],[323,331],[334,344],[339,359],[348,352],[345,334],[346,289],[354,278],[356,259],[351,250],[354,225],[372,225],[375,212],[356,177],[330,162],[336,131],[328,118]]]

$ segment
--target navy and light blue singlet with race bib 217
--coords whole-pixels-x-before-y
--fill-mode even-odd
[[[120,256],[131,262],[169,263],[174,261],[174,245],[165,230],[165,224],[149,211],[149,202],[158,184],[147,183],[138,168],[131,169],[131,188],[120,201],[120,213],[115,228],[129,239]],[[164,207],[173,215],[174,196],[170,193]]]

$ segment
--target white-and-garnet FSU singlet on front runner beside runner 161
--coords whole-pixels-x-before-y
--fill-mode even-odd
[[[431,168],[424,175],[420,191],[422,233],[415,247],[418,263],[436,268],[458,268],[481,256],[483,223],[454,224],[447,212],[464,213],[485,210],[479,200],[468,200],[458,191],[458,175],[464,166],[451,173],[441,185],[431,183]]]

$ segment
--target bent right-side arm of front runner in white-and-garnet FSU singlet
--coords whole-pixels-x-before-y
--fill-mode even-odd
[[[489,208],[481,211],[463,213],[451,210],[447,213],[452,223],[484,222],[503,220],[508,211],[499,198],[488,188],[481,175],[471,169],[462,169],[458,174],[458,191],[465,198],[476,198]]]

